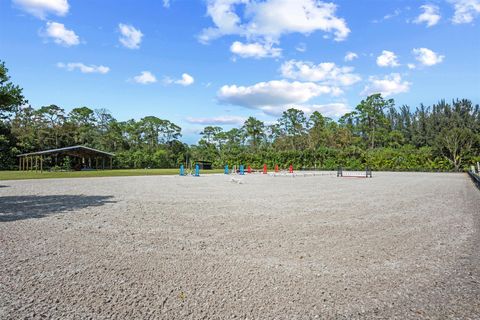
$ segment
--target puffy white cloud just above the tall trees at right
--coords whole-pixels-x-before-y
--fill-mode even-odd
[[[361,95],[370,95],[374,93],[381,93],[384,97],[408,92],[411,83],[402,81],[402,77],[398,73],[386,75],[383,78],[369,77],[369,83],[363,89]]]

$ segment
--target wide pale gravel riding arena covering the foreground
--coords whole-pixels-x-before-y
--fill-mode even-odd
[[[480,319],[466,174],[0,181],[1,319]]]

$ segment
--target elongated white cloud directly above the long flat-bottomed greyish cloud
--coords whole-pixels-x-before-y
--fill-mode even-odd
[[[352,67],[338,67],[333,62],[313,64],[296,60],[286,61],[280,67],[285,78],[338,86],[350,86],[361,80],[359,75],[352,73],[353,70]]]

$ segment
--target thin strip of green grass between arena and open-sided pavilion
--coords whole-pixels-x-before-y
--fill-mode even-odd
[[[222,173],[222,169],[200,170],[200,175]],[[0,180],[52,179],[52,178],[91,178],[91,177],[122,177],[122,176],[156,176],[176,175],[179,169],[115,169],[98,171],[69,172],[35,172],[35,171],[0,171]]]

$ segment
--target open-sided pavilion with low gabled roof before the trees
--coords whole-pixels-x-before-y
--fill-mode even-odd
[[[89,148],[86,146],[72,146],[59,149],[50,149],[18,155],[18,169],[20,171],[43,171],[44,162],[58,165],[58,160],[68,157],[70,168],[74,170],[112,169],[113,153]]]

